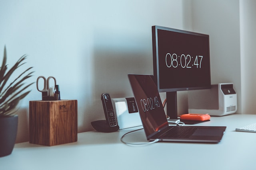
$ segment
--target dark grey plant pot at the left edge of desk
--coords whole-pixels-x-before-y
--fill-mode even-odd
[[[12,153],[18,129],[18,115],[0,117],[0,157]]]

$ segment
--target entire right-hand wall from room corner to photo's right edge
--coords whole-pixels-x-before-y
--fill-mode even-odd
[[[233,82],[238,111],[255,114],[256,1],[191,0],[187,27],[210,35],[212,84]],[[186,20],[185,20],[186,21]],[[186,26],[184,27],[186,28]]]

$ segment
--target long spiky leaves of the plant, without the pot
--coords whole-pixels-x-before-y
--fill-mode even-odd
[[[24,97],[26,97],[29,91],[24,92],[29,86],[33,83],[30,83],[25,86],[24,80],[30,78],[32,76],[31,69],[33,67],[29,67],[24,72],[22,72],[18,77],[14,78],[13,81],[10,80],[12,78],[13,72],[17,70],[24,63],[27,55],[23,55],[20,59],[7,70],[7,56],[6,56],[6,47],[4,46],[4,58],[2,62],[2,66],[0,68],[0,117],[12,116],[17,111],[16,106]],[[29,73],[28,73],[29,72]],[[12,82],[11,82],[12,81]]]

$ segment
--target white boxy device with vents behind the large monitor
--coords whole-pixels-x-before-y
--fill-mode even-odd
[[[223,116],[236,113],[237,95],[233,83],[212,85],[211,89],[188,92],[188,113]]]

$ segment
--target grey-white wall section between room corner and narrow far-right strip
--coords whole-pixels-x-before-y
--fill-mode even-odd
[[[186,1],[185,1],[186,2]],[[234,83],[241,113],[239,0],[191,0],[184,29],[210,35],[212,84]],[[188,24],[190,23],[190,24]]]

